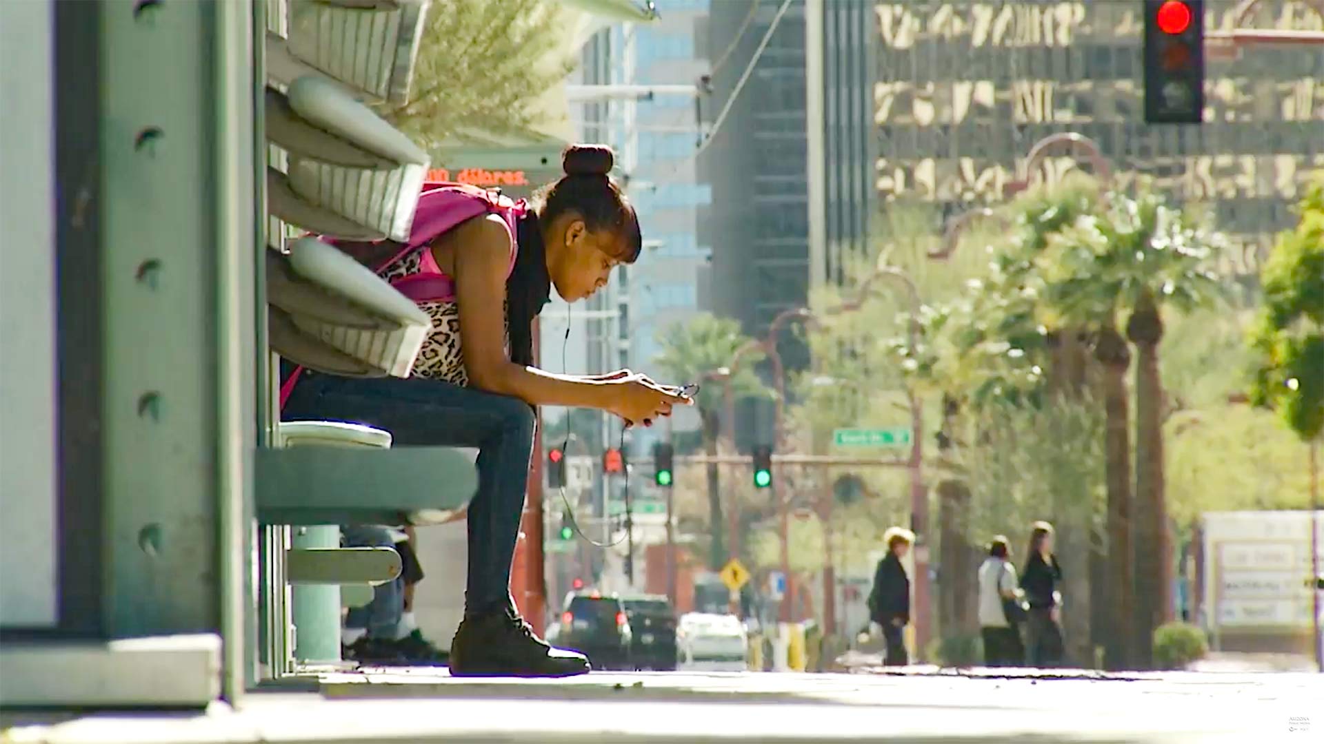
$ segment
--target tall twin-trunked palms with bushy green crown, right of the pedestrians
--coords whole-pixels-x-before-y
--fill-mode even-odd
[[[1164,504],[1162,420],[1164,393],[1158,371],[1158,343],[1162,340],[1162,308],[1194,308],[1222,294],[1217,277],[1204,269],[1210,254],[1210,237],[1190,224],[1178,209],[1162,199],[1143,195],[1131,199],[1112,195],[1099,216],[1086,216],[1066,232],[1046,256],[1046,277],[1054,303],[1068,316],[1095,320],[1095,356],[1103,364],[1103,389],[1108,410],[1107,438],[1110,462],[1108,532],[1113,576],[1120,572],[1128,551],[1123,540],[1128,530],[1124,487],[1119,481],[1125,462],[1125,383],[1129,363],[1125,343],[1117,330],[1117,315],[1128,314],[1125,335],[1136,346],[1136,479],[1133,631],[1116,618],[1119,635],[1131,637],[1137,647],[1128,661],[1149,663],[1153,630],[1169,613],[1170,539]],[[1115,588],[1116,589],[1116,588]],[[1125,610],[1125,597],[1117,596],[1113,610]],[[1125,659],[1119,645],[1113,663]],[[1123,655],[1117,655],[1123,654]]]

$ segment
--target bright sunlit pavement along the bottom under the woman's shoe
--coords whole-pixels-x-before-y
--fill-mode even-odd
[[[9,724],[16,723],[8,716]],[[0,741],[127,743],[1324,743],[1324,675],[1141,678],[593,674],[459,682],[437,670],[327,674],[320,692],[238,711],[118,715],[9,728]]]

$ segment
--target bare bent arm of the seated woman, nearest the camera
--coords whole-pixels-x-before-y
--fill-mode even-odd
[[[510,233],[496,216],[470,220],[446,236],[454,241],[455,299],[459,306],[459,338],[465,371],[474,387],[518,397],[531,405],[598,408],[622,414],[647,408],[647,393],[630,377],[589,380],[555,375],[514,364],[506,355],[506,267]],[[634,400],[630,400],[633,396]],[[685,404],[683,398],[655,391],[658,408]],[[669,400],[674,398],[674,400]],[[665,404],[665,405],[663,405]],[[638,413],[636,413],[638,414]]]

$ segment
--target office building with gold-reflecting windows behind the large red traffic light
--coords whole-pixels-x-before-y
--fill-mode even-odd
[[[1206,30],[1320,30],[1308,3],[1207,0]],[[1098,143],[1113,185],[1144,181],[1217,216],[1253,273],[1291,225],[1304,179],[1324,165],[1324,46],[1246,48],[1206,65],[1202,124],[1145,124],[1140,3],[880,3],[876,7],[876,192],[941,217],[994,205],[1029,150],[1074,131]],[[1050,158],[1059,177],[1083,154]]]

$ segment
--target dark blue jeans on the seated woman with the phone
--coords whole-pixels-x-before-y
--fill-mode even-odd
[[[281,418],[365,424],[391,432],[397,446],[478,447],[478,494],[467,519],[465,614],[510,606],[510,568],[534,454],[532,406],[440,380],[359,380],[305,371]],[[418,488],[433,487],[418,483]]]

